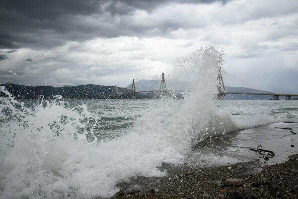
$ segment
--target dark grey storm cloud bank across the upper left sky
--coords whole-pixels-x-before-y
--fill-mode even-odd
[[[152,25],[132,25],[123,16],[168,3],[215,1],[227,0],[1,0],[0,29],[6,31],[0,32],[0,48],[52,48],[94,37],[159,35],[181,24],[165,22],[152,31]]]

